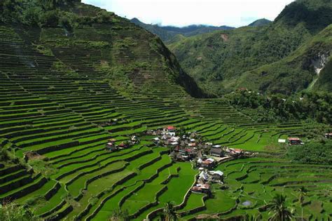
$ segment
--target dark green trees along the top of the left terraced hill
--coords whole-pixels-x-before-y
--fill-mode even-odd
[[[77,15],[66,7],[81,0],[4,0],[0,1],[0,22],[38,27],[71,29],[93,23],[110,22],[113,13],[99,11],[95,17]]]

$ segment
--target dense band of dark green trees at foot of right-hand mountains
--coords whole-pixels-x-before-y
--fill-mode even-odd
[[[281,94],[262,95],[237,91],[225,96],[230,105],[237,107],[256,121],[289,121],[295,119],[331,124],[331,93],[304,92],[287,97]]]

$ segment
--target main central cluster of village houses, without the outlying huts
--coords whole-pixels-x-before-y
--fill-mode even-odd
[[[153,138],[155,145],[172,147],[170,155],[174,160],[193,160],[195,162],[195,166],[200,170],[200,175],[195,186],[191,189],[193,192],[209,194],[210,183],[223,184],[223,172],[213,170],[219,161],[250,154],[242,149],[222,147],[221,145],[213,145],[212,142],[204,142],[196,133],[180,133],[181,135],[178,133],[179,131],[174,126],[148,131],[148,135],[156,135]]]

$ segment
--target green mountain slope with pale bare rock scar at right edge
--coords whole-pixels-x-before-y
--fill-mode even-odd
[[[286,58],[242,74],[238,87],[272,93],[331,92],[332,25],[303,43]]]

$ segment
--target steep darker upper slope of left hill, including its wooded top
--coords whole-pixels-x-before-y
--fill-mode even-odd
[[[141,87],[150,85],[151,81],[161,81],[165,86],[182,86],[193,96],[202,95],[195,81],[181,69],[164,43],[129,20],[100,8],[81,4],[80,1],[36,2],[40,3],[5,1],[1,6],[0,19],[8,24],[6,29],[17,30],[15,24],[39,28],[36,31],[39,35],[33,41],[24,41],[22,47],[15,46],[15,43],[9,46],[16,57],[23,56],[19,59],[20,65],[29,62],[37,67],[38,60],[24,56],[36,54],[36,58],[39,58],[46,55],[51,72],[62,69],[61,71],[66,70],[71,75],[86,75],[88,79],[90,74],[93,78],[98,72],[98,79],[113,77],[111,83],[122,91],[128,92],[130,88],[131,91],[141,91]],[[22,11],[25,13],[21,13]],[[43,29],[48,27],[56,28],[54,33],[52,29]],[[109,31],[106,31],[108,28]],[[43,32],[39,33],[41,29]],[[49,33],[44,34],[45,32]],[[30,33],[19,33],[18,38],[24,38],[25,34]],[[69,50],[71,47],[77,50]],[[86,58],[81,51],[94,59],[83,62]],[[69,53],[79,60],[77,63],[83,64],[80,66],[65,60]],[[106,56],[101,57],[104,53]]]

